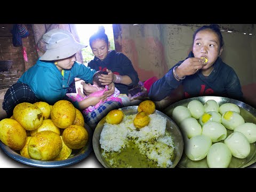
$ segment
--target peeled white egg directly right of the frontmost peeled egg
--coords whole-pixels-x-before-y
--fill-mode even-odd
[[[231,133],[224,143],[228,146],[231,154],[236,158],[245,158],[250,154],[250,143],[243,133],[238,131]]]

